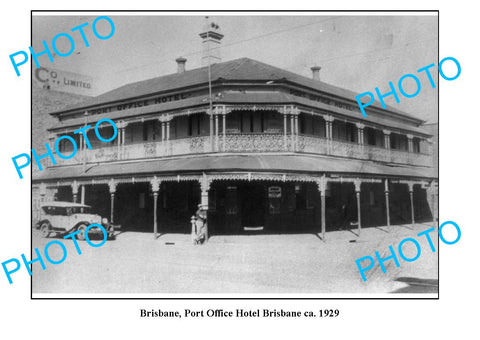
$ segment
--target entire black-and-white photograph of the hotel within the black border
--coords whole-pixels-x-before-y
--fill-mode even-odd
[[[52,36],[32,250],[62,263],[34,298],[437,298],[435,12],[34,12]]]

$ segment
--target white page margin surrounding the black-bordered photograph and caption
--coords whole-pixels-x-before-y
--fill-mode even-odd
[[[208,5],[207,5],[208,4]],[[455,245],[441,245],[440,300],[293,300],[293,301],[162,301],[162,300],[30,300],[30,277],[24,268],[9,285],[0,275],[1,337],[20,339],[130,338],[474,338],[477,303],[479,210],[477,155],[478,13],[474,2],[385,1],[289,2],[296,9],[439,9],[440,58],[456,57],[460,78],[440,81],[440,221],[454,220],[462,229]],[[17,77],[8,56],[30,45],[32,9],[234,9],[225,1],[2,2],[0,69],[2,114],[0,262],[30,253],[30,178],[19,180],[11,157],[30,147],[30,78]],[[280,5],[243,1],[235,9],[282,9]],[[359,7],[359,6],[362,7]],[[138,7],[137,7],[138,6]],[[175,6],[175,7],[172,7]],[[272,7],[275,6],[275,7]],[[331,7],[333,6],[333,7]],[[121,53],[121,51],[119,52]],[[412,70],[413,71],[413,70]],[[368,77],[368,74],[365,75]],[[47,269],[48,270],[48,269]],[[338,308],[336,319],[140,319],[139,308],[164,310],[208,308],[284,308],[317,311]]]

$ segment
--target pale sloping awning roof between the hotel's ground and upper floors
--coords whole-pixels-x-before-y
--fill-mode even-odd
[[[181,158],[163,158],[140,162],[103,163],[54,166],[39,173],[34,182],[79,178],[109,178],[115,176],[178,175],[203,172],[323,172],[349,175],[393,176],[400,178],[434,178],[431,168],[401,166],[348,158],[313,155],[202,155]]]

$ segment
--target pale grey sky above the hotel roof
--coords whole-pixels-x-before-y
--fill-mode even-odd
[[[70,32],[86,22],[90,46],[85,46],[78,32],[71,33],[74,52],[68,57],[55,56],[53,63],[47,56],[41,56],[40,64],[93,77],[96,94],[174,73],[175,59],[179,56],[187,58],[187,70],[201,66],[199,33],[205,23],[204,15],[55,14],[34,15],[35,51],[43,49],[43,40],[51,46],[56,34]],[[424,66],[438,64],[436,15],[276,14],[281,15],[210,16],[224,34],[222,61],[248,57],[306,77],[311,77],[310,67],[318,65],[322,68],[322,81],[358,93],[375,92],[375,87],[387,93],[389,81],[397,87],[400,77],[411,73],[422,82],[420,93],[414,98],[400,95],[400,104],[390,96],[386,103],[427,122],[438,121],[438,86],[432,89],[426,75],[417,73]],[[110,39],[97,39],[91,30],[93,20],[99,15],[108,15],[115,24]],[[109,32],[106,21],[99,21],[97,27],[101,33]],[[66,41],[57,41],[60,51],[69,49]],[[438,84],[437,68],[432,70]],[[405,81],[404,89],[415,92],[413,80]]]

